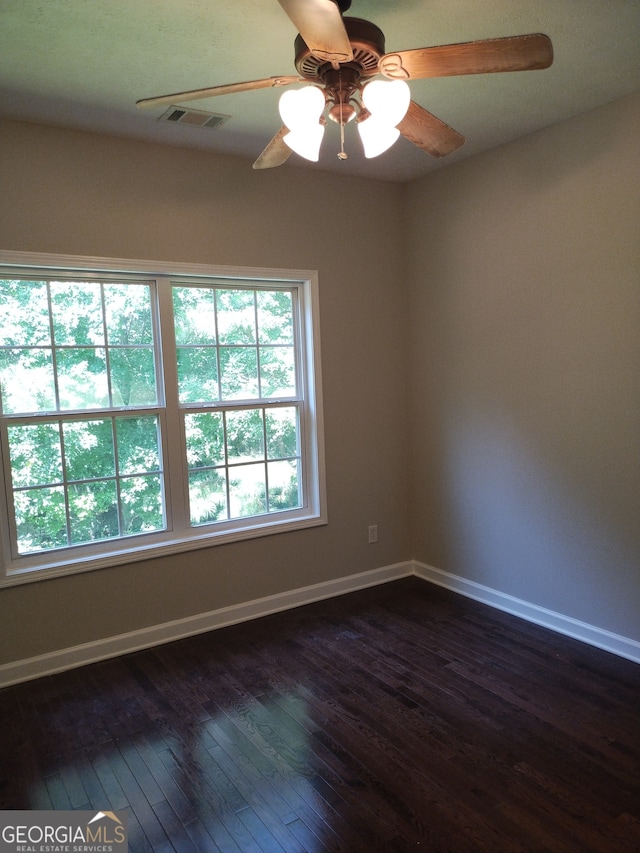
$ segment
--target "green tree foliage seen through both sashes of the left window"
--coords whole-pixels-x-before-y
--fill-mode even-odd
[[[0,310],[3,411],[42,415],[7,427],[20,552],[162,529],[157,417],[78,414],[157,402],[149,288],[3,280]]]

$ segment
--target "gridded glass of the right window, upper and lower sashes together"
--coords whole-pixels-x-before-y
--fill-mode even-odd
[[[180,403],[213,406],[183,414],[190,523],[300,507],[294,293],[192,285],[172,295]]]

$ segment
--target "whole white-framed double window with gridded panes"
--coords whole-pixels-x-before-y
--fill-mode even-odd
[[[4,582],[324,523],[314,276],[68,260],[0,266]]]

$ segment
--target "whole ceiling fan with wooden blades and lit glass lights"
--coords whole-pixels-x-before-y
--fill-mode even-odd
[[[433,157],[445,157],[465,138],[411,100],[406,81],[463,74],[533,71],[553,62],[553,47],[541,33],[385,53],[382,30],[370,21],[344,17],[351,0],[278,0],[299,35],[295,68],[299,76],[266,77],[137,101],[140,109],[229,95],[254,89],[307,85],[280,99],[284,126],[253,164],[280,166],[295,150],[318,159],[324,112],[340,126],[340,159],[345,125],[355,120],[368,157],[377,156],[402,135]],[[382,75],[385,81],[373,81]]]

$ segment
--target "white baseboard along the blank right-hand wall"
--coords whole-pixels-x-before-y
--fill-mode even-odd
[[[564,616],[562,613],[547,610],[537,604],[530,604],[528,601],[514,598],[512,595],[483,586],[483,584],[459,575],[434,569],[433,566],[427,566],[424,563],[414,561],[413,567],[414,574],[425,581],[429,581],[429,583],[446,587],[446,589],[460,593],[467,598],[473,598],[483,604],[488,604],[490,607],[526,619],[527,622],[534,622],[536,625],[542,625],[552,631],[557,631],[559,634],[581,640],[590,646],[596,646],[635,663],[640,663],[640,643],[637,640],[623,637],[620,634],[613,634],[611,631],[605,631],[603,628],[597,628],[587,622],[580,622],[571,616]]]

